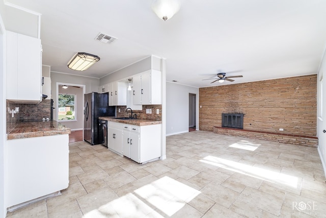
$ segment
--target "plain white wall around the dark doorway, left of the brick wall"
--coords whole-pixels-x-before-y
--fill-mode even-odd
[[[199,89],[167,82],[167,135],[189,131],[189,93],[196,94],[196,124],[198,124]],[[198,129],[198,125],[196,129]]]

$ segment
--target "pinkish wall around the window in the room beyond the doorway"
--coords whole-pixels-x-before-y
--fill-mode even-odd
[[[71,130],[83,130],[84,128],[84,93],[83,87],[76,88],[69,86],[66,89],[59,88],[59,94],[75,94],[75,105],[76,111],[75,116],[76,120],[59,120],[60,123],[65,125],[66,127],[70,128]],[[56,110],[58,111],[58,110]]]

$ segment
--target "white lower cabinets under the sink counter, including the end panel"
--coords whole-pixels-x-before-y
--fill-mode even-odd
[[[108,122],[108,149],[138,163],[158,159],[161,156],[161,130],[161,124],[134,126]]]

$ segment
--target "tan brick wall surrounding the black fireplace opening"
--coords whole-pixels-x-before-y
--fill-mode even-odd
[[[316,75],[200,88],[199,128],[213,131],[222,113],[244,113],[244,130],[316,136],[316,98]]]

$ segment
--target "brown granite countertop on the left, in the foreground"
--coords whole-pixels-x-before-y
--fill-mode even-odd
[[[70,134],[70,129],[56,120],[20,122],[7,133],[7,139],[31,138],[48,135]]]

